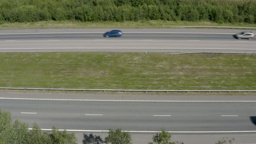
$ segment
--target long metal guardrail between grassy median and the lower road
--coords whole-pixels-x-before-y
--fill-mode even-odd
[[[136,90],[136,89],[73,89],[73,88],[4,88],[16,90],[45,90],[45,91],[95,91],[95,92],[256,92],[256,90]]]

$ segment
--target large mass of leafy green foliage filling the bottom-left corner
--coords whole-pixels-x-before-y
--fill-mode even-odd
[[[75,134],[58,131],[42,132],[38,124],[31,131],[28,124],[11,119],[9,111],[0,109],[0,144],[76,144]]]

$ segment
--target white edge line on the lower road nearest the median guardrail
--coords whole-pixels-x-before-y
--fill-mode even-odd
[[[98,100],[98,99],[51,99],[51,98],[0,98],[15,100],[46,100],[46,101],[131,101],[131,102],[256,102],[256,101],[151,101],[151,100]]]

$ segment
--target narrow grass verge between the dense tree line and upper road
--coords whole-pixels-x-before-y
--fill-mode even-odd
[[[126,22],[80,22],[80,21],[41,21],[35,23],[2,23],[0,29],[26,28],[171,28],[173,26],[244,26],[256,27],[249,23],[214,23],[214,22],[187,22],[187,21],[126,21]]]

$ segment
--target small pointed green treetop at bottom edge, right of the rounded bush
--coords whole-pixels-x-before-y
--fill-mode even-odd
[[[171,142],[171,134],[167,131],[161,129],[160,134],[156,134],[152,137],[153,141],[157,144],[175,144],[174,142]]]

